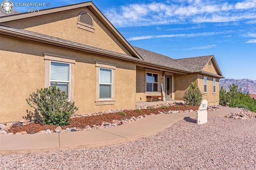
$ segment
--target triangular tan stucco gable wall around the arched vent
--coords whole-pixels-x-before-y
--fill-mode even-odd
[[[94,19],[94,32],[77,27],[78,15],[82,11],[89,12]],[[130,55],[113,34],[86,7],[2,24]]]

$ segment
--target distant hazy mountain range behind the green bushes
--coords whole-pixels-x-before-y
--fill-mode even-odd
[[[227,91],[229,90],[228,86],[232,84],[238,85],[238,88],[241,87],[243,93],[256,94],[256,80],[220,79],[220,87],[223,86]]]

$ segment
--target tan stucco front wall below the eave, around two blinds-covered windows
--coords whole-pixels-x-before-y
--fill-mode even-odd
[[[79,107],[78,114],[135,108],[134,63],[6,36],[0,38],[0,123],[21,120],[27,115],[27,109],[33,112],[26,99],[36,89],[44,88],[44,52],[77,58],[74,68],[74,101]],[[116,65],[114,105],[95,105],[95,61]]]

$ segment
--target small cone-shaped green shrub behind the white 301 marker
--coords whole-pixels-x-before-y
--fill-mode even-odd
[[[183,95],[186,105],[199,106],[203,99],[203,93],[200,91],[196,82],[191,82]]]

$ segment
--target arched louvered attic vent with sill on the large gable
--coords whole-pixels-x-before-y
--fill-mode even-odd
[[[82,11],[78,15],[78,22],[77,22],[77,27],[94,32],[94,22],[92,16],[88,12]]]

